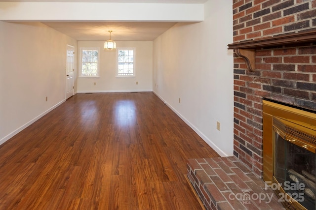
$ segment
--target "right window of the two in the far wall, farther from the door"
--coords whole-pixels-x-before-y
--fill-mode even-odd
[[[135,48],[118,48],[117,76],[135,76]]]

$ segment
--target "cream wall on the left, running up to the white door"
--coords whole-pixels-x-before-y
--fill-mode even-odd
[[[65,101],[67,44],[41,23],[0,21],[0,144]]]

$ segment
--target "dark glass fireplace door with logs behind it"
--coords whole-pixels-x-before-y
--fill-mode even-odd
[[[286,200],[282,195],[286,193],[299,203],[298,209],[316,209],[315,148],[277,127],[274,127],[274,180],[281,188],[276,190],[279,198]]]

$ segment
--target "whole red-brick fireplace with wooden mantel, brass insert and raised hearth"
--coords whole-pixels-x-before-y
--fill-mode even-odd
[[[207,210],[315,209],[316,0],[233,0],[233,14],[234,157],[188,160],[188,178]]]

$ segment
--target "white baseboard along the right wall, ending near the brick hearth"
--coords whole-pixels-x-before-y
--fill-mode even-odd
[[[170,104],[168,104],[157,92],[153,91],[155,95],[158,96],[158,98],[164,102],[179,118],[181,118],[187,125],[189,125],[199,137],[201,137],[204,142],[206,142],[213,150],[215,150],[220,156],[227,157],[227,155],[223,150],[219,149],[214,142],[212,142],[209,138],[207,138],[201,131],[197,129],[196,126],[194,126],[189,120],[187,120],[185,117],[183,117],[177,110],[175,110]]]

